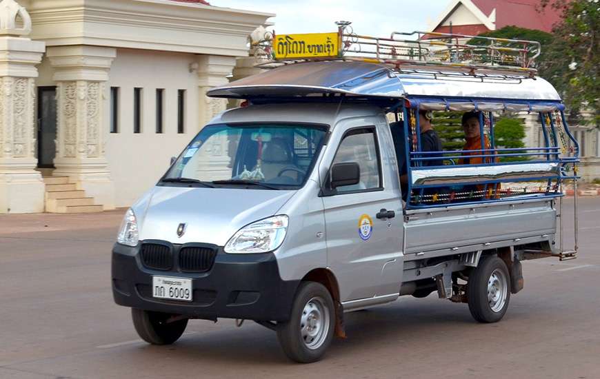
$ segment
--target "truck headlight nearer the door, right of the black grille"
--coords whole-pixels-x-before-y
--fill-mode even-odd
[[[272,252],[281,246],[287,231],[288,216],[265,218],[239,229],[225,245],[225,252],[230,254]]]

